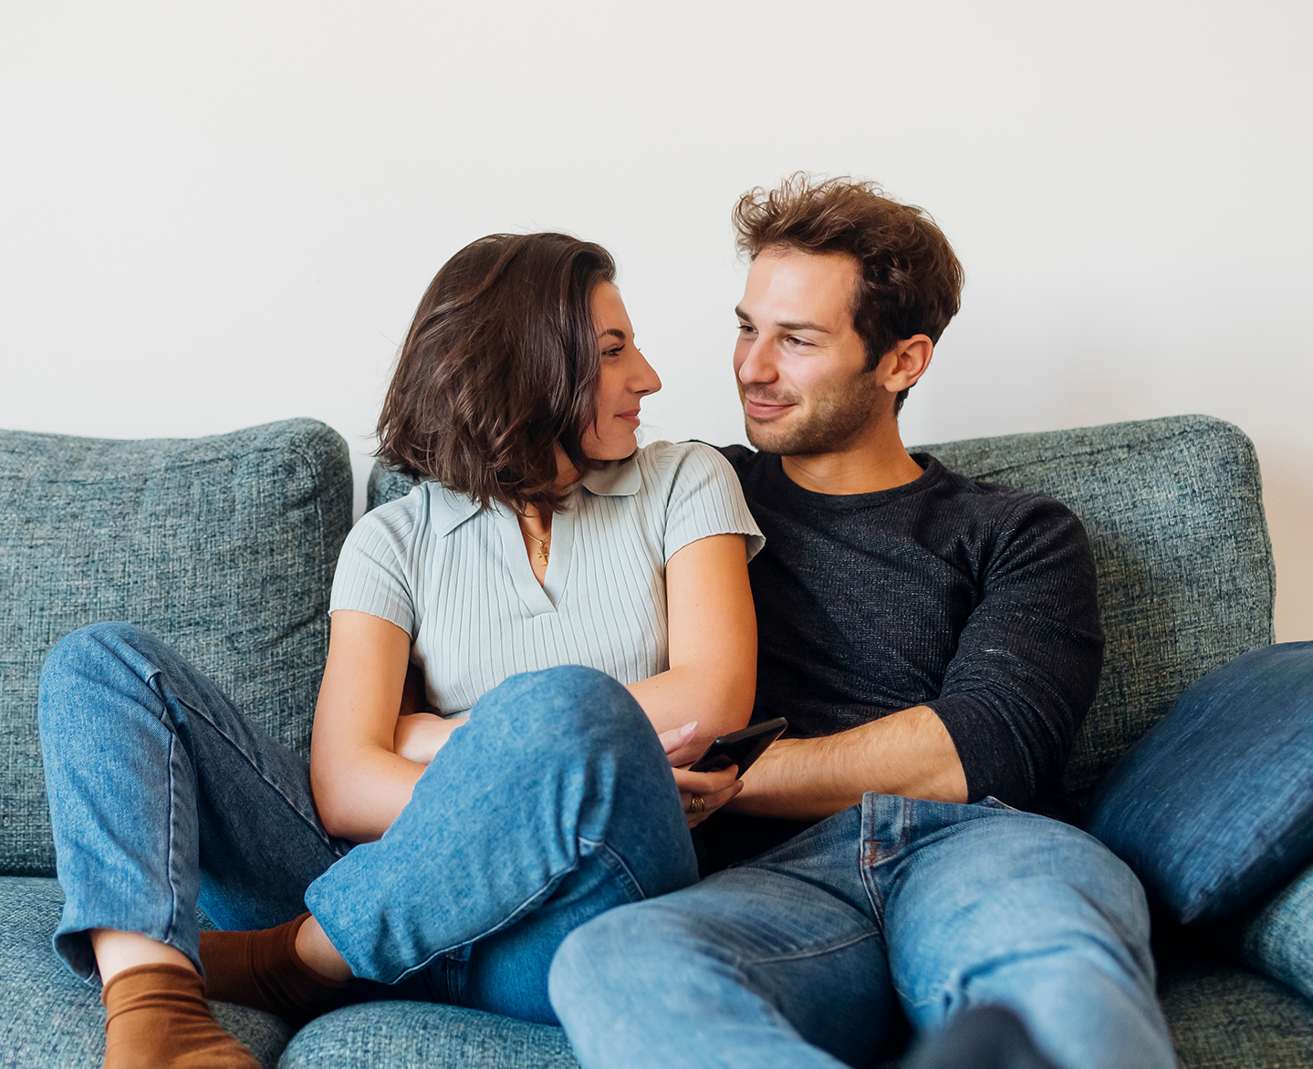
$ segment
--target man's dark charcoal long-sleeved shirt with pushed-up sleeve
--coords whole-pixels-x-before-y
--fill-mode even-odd
[[[1060,775],[1103,665],[1094,557],[1058,502],[924,474],[874,494],[814,494],[780,458],[721,450],[765,534],[748,574],[754,721],[810,738],[914,705],[944,722],[970,801],[1062,812]]]

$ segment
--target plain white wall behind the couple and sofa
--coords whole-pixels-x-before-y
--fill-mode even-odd
[[[729,207],[805,168],[966,265],[905,439],[1176,412],[1255,440],[1278,637],[1313,638],[1304,3],[7,4],[0,425],[357,453],[429,277],[607,244],[668,437],[742,440]],[[1115,473],[1109,473],[1115,477]]]

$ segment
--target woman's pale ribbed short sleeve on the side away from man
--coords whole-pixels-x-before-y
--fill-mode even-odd
[[[411,638],[419,628],[406,546],[415,515],[408,499],[366,512],[347,536],[332,580],[328,612],[351,609],[387,620]]]

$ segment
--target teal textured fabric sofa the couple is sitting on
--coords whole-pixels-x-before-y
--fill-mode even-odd
[[[1078,800],[1191,683],[1272,642],[1259,470],[1238,428],[1173,416],[918,448],[1050,494],[1090,533],[1108,644],[1066,770]],[[408,489],[376,468],[368,506]],[[0,1066],[98,1065],[104,1049],[98,990],[50,949],[62,894],[37,737],[46,653],[87,622],[140,624],[307,754],[351,511],[347,445],[310,419],[193,440],[0,432]],[[1222,925],[1155,921],[1183,1066],[1313,1069],[1310,888],[1313,869]],[[561,1030],[458,1007],[372,1002],[295,1035],[253,1010],[215,1014],[270,1069],[575,1066]]]

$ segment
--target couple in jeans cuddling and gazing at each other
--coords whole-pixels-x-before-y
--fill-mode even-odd
[[[251,1066],[206,995],[299,1023],[362,981],[559,1020],[586,1069],[865,1064],[905,1019],[923,1065],[1174,1064],[1140,884],[1054,819],[1085,532],[898,435],[948,242],[847,181],[735,221],[755,453],[635,450],[660,382],[600,247],[439,272],[379,419],[424,482],[343,549],[309,767],[142,630],[51,653],[55,947],[106,1066]],[[789,733],[744,779],[687,770],[750,714]]]

